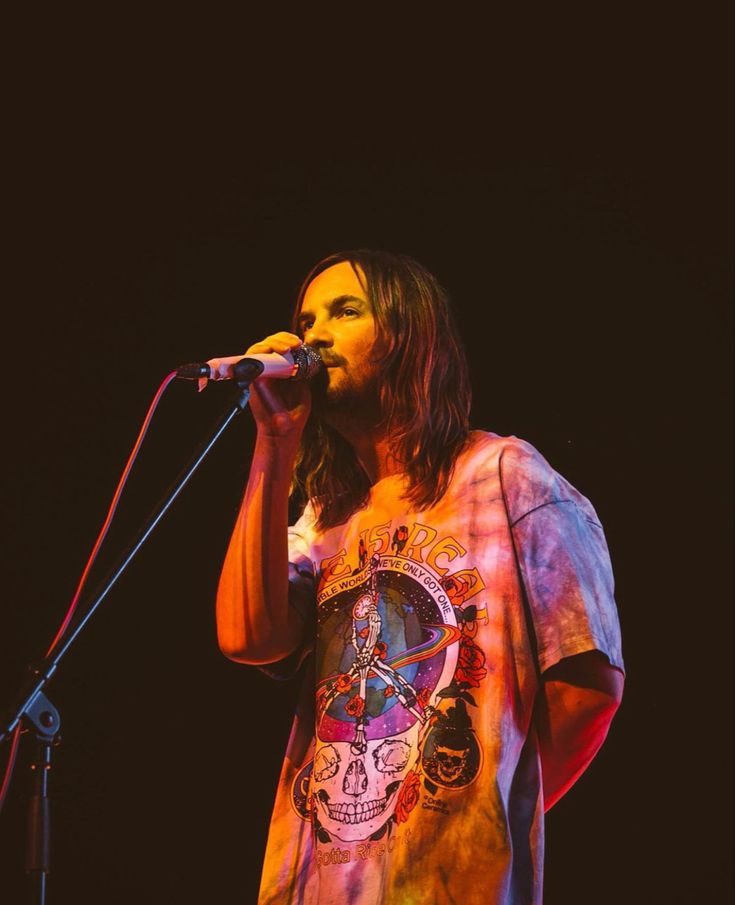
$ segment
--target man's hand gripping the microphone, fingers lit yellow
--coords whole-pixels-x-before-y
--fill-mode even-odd
[[[294,333],[274,333],[255,343],[245,355],[278,352],[283,355],[300,346]],[[259,377],[250,386],[250,410],[258,433],[264,437],[290,437],[298,442],[311,412],[311,390],[307,381],[273,380]]]

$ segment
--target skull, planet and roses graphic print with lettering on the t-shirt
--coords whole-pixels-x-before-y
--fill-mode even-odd
[[[431,792],[464,788],[482,760],[471,689],[487,674],[473,640],[484,614],[470,603],[482,577],[436,571],[463,548],[432,526],[388,529],[366,529],[361,540],[374,546],[382,532],[389,553],[363,555],[362,568],[350,570],[343,551],[322,572],[317,747],[293,792],[317,840],[363,843],[358,857],[366,843],[397,844],[422,778]],[[317,863],[334,853],[318,849]],[[340,849],[340,860],[351,856]]]

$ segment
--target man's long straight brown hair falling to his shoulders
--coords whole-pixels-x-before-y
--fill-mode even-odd
[[[425,267],[405,255],[371,249],[338,252],[306,276],[294,311],[294,332],[306,289],[322,271],[347,261],[363,281],[376,320],[383,380],[380,404],[391,452],[407,478],[404,494],[427,509],[446,492],[469,435],[471,390],[447,295]],[[292,498],[318,503],[317,528],[340,525],[365,505],[370,481],[352,447],[315,412],[306,424]]]

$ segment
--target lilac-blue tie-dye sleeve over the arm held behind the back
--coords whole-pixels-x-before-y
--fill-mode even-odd
[[[624,669],[610,554],[592,504],[524,441],[503,451],[500,468],[539,670],[589,650]]]

